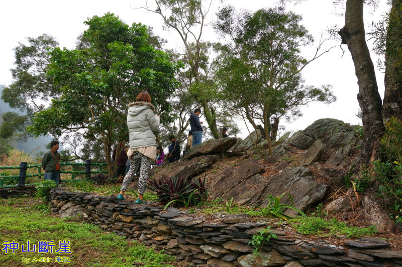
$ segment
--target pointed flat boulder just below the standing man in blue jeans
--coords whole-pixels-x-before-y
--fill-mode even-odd
[[[191,160],[192,158],[220,154],[229,150],[236,144],[237,138],[222,138],[222,139],[210,139],[204,143],[193,146],[191,150],[185,154],[183,160]]]

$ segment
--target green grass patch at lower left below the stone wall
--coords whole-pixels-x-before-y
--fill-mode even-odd
[[[0,199],[0,236],[5,240],[15,240],[20,243],[20,249],[13,254],[0,250],[0,266],[43,266],[43,262],[22,263],[22,257],[37,259],[53,258],[53,263],[46,266],[56,266],[56,256],[67,256],[69,263],[64,266],[132,266],[142,262],[144,266],[174,266],[174,257],[162,252],[156,252],[138,242],[129,242],[115,233],[106,233],[96,225],[60,219],[49,215],[49,207],[43,205],[39,198]],[[22,253],[21,245],[30,240],[38,244],[39,240],[54,240],[58,249],[59,240],[70,240],[70,254]],[[37,245],[38,246],[38,245]],[[3,248],[4,246],[0,246]]]

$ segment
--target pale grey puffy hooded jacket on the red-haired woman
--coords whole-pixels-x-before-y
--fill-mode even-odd
[[[127,126],[130,134],[130,149],[156,146],[156,131],[160,118],[155,116],[155,107],[147,102],[134,102],[129,104]]]

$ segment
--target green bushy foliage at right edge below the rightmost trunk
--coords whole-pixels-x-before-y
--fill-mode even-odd
[[[387,159],[374,162],[374,179],[380,183],[378,195],[388,199],[391,217],[402,217],[402,122],[392,117],[385,123],[385,133],[380,140],[380,151]]]

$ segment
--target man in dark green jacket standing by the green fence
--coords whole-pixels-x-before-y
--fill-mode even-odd
[[[43,155],[42,168],[45,170],[45,180],[53,180],[60,183],[60,153],[59,142],[50,142],[50,150]]]

